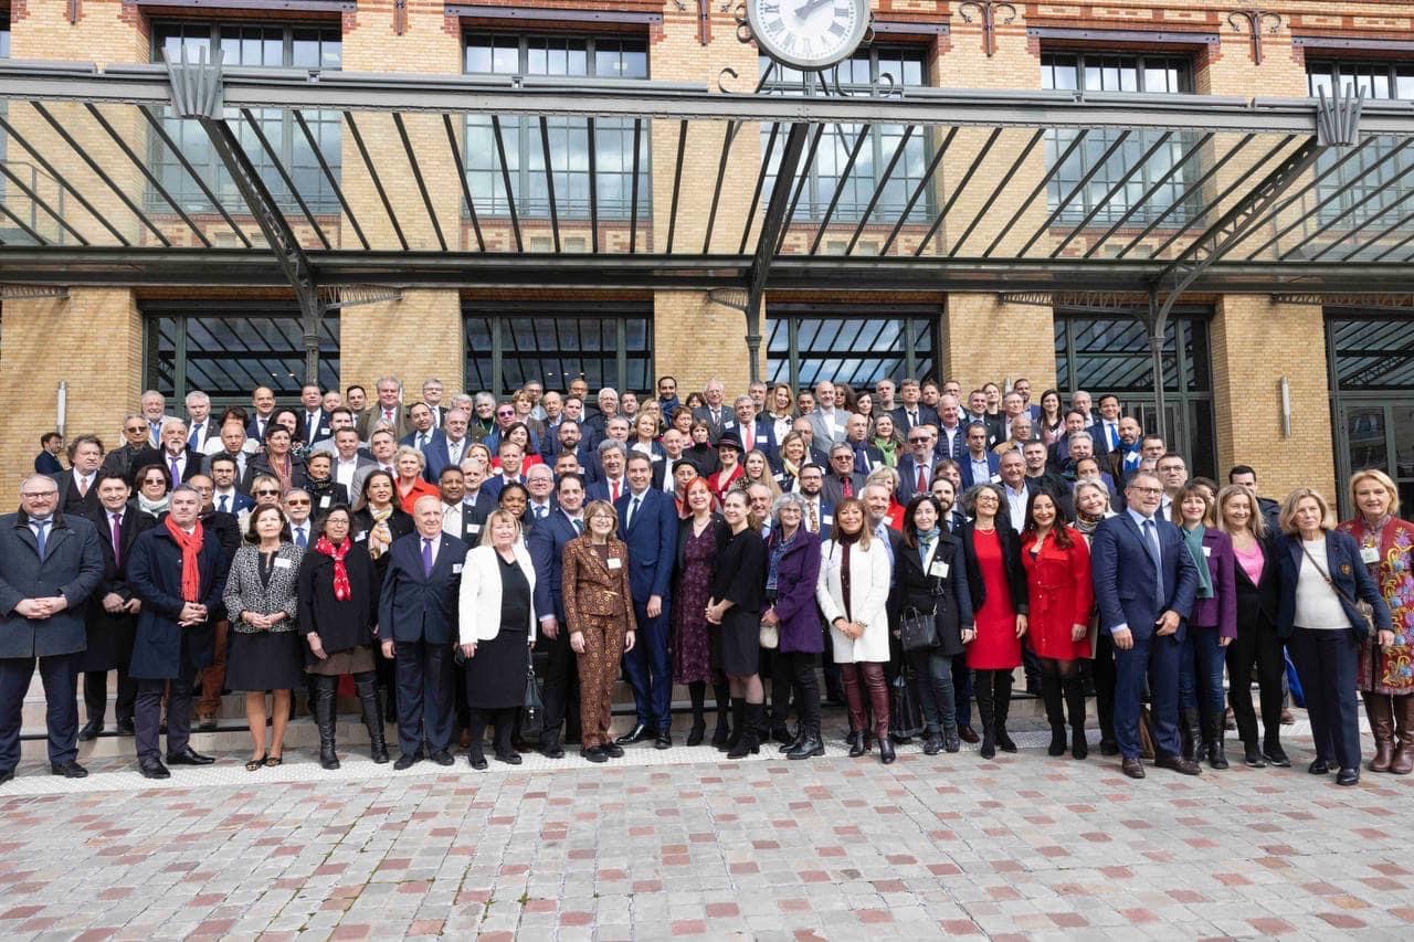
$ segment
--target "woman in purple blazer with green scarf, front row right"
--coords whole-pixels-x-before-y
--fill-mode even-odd
[[[1202,755],[1212,768],[1227,768],[1223,752],[1223,663],[1226,648],[1237,636],[1237,556],[1233,540],[1217,529],[1209,489],[1199,482],[1179,488],[1174,498],[1174,523],[1184,533],[1198,566],[1198,600],[1188,618],[1179,652],[1178,706],[1184,757],[1193,748],[1195,727]]]

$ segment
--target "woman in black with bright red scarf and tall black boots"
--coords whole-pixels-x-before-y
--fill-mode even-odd
[[[383,583],[352,532],[354,515],[346,506],[335,506],[315,522],[315,539],[300,563],[300,627],[308,642],[305,670],[314,675],[314,719],[324,768],[339,767],[334,751],[335,692],[345,673],[354,676],[373,761],[380,765],[387,761],[373,659],[373,625]]]

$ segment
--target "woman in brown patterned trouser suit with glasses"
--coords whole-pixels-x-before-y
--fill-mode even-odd
[[[585,533],[564,545],[564,617],[580,663],[580,748],[602,762],[624,755],[609,738],[609,706],[619,658],[633,649],[628,546],[618,539],[618,515],[608,501],[584,508]]]

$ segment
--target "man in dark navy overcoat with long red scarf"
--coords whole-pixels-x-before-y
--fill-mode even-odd
[[[137,680],[137,771],[171,778],[158,750],[167,693],[167,764],[211,765],[191,748],[192,685],[215,659],[215,625],[226,615],[222,591],[230,562],[201,519],[201,494],[189,484],[171,492],[167,518],[133,543],[127,584],[141,603],[133,659]]]

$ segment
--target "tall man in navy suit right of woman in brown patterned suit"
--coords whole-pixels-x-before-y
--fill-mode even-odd
[[[667,661],[669,577],[677,559],[677,504],[653,487],[653,463],[635,451],[628,458],[628,492],[614,505],[619,539],[628,543],[628,586],[638,620],[638,644],[624,653],[624,673],[633,689],[638,723],[619,745],[653,738],[666,750],[673,737],[673,678]]]

